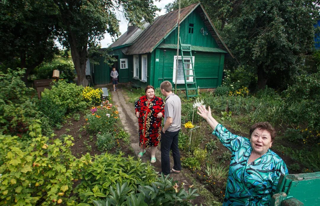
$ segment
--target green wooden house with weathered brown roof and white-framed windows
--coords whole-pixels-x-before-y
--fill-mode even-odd
[[[118,61],[115,67],[119,82],[132,82],[145,87],[168,80],[175,83],[176,60],[178,58],[177,88],[185,88],[181,53],[177,57],[178,10],[158,16],[152,24],[145,23],[144,29],[129,25],[128,30],[113,44],[113,55]],[[189,70],[187,82],[196,78],[200,88],[215,88],[221,84],[224,59],[232,57],[200,3],[180,10],[181,44],[189,44],[194,70]],[[184,62],[191,62],[191,57]],[[190,67],[185,64],[185,67]],[[95,84],[110,83],[111,68],[103,63],[92,69]],[[195,74],[193,74],[193,72]]]

